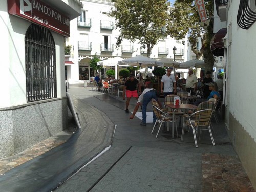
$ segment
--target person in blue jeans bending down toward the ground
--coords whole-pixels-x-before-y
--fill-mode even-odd
[[[150,85],[150,82],[147,82],[146,88],[140,94],[137,104],[133,110],[133,114],[129,118],[129,119],[133,119],[139,109],[139,106],[142,105],[142,122],[140,123],[141,126],[146,126],[146,108],[147,108],[148,103],[151,101],[151,99],[155,99],[162,108],[161,103],[158,101],[158,96],[157,96],[156,90],[153,88],[148,88],[149,85]],[[153,113],[153,123],[154,124],[155,124],[156,120],[157,120],[157,117],[156,117],[155,113]]]

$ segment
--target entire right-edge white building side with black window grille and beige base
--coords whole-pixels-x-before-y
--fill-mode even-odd
[[[220,3],[220,1],[215,1]],[[254,54],[256,42],[255,1],[225,1],[217,5],[221,21],[227,27],[225,49],[225,124],[254,188],[256,187],[256,89]],[[248,13],[246,8],[251,12]],[[254,15],[254,17],[253,17]],[[218,22],[218,21],[217,21]],[[217,23],[216,22],[216,23]],[[218,25],[216,25],[218,27]],[[218,29],[223,26],[220,24]],[[215,29],[217,32],[218,29]]]

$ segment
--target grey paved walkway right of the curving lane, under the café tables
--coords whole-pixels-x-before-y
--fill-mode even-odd
[[[199,148],[195,148],[191,132],[184,136],[184,142],[161,131],[155,138],[156,133],[150,134],[153,123],[142,127],[140,119],[129,120],[130,114],[125,113],[125,101],[121,97],[99,92],[94,92],[93,97],[85,97],[88,92],[84,90],[84,94],[79,94],[79,89],[69,92],[106,113],[117,127],[110,150],[54,192],[254,191],[230,144],[223,122],[216,124],[213,121],[216,146],[212,146],[209,133],[205,132],[198,142]],[[135,104],[135,99],[131,99],[130,111]],[[148,110],[151,110],[150,104]],[[219,156],[220,162],[230,158],[236,161],[226,162],[229,166],[221,170],[214,168],[216,156]],[[210,164],[210,168],[205,164]],[[237,172],[233,172],[234,168]],[[217,178],[223,172],[229,182],[227,177]],[[239,180],[246,182],[240,182],[240,186],[232,184]],[[226,183],[228,185],[223,187]]]

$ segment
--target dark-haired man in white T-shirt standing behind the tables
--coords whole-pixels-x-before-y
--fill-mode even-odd
[[[161,79],[161,93],[164,94],[164,97],[176,93],[176,80],[171,72],[172,69],[168,68],[167,73]]]

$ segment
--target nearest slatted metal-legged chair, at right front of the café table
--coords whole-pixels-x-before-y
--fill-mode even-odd
[[[210,133],[212,145],[215,146],[214,137],[211,133],[211,127],[210,127],[210,121],[212,118],[212,115],[215,113],[214,110],[214,103],[211,101],[205,101],[198,105],[196,111],[191,115],[183,115],[183,127],[182,127],[182,134],[181,134],[181,141],[183,141],[185,126],[189,126],[193,130],[193,136],[195,140],[195,145],[197,145],[197,131],[208,130]],[[207,127],[205,129],[202,129],[202,127]],[[199,137],[200,139],[200,137]]]

